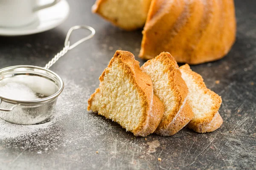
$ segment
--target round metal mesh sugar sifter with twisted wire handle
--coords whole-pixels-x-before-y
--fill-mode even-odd
[[[76,29],[88,29],[91,34],[70,45],[70,35]],[[17,65],[0,70],[0,86],[10,82],[22,83],[36,94],[44,96],[36,100],[15,100],[0,94],[0,118],[7,122],[20,125],[33,125],[49,119],[54,112],[58,96],[64,89],[64,82],[58,74],[49,68],[67,51],[82,42],[89,40],[95,34],[90,26],[73,26],[67,33],[64,48],[49,61],[44,68],[32,65]]]

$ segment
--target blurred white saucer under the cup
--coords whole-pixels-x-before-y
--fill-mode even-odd
[[[48,3],[49,0],[39,0],[39,3]],[[49,1],[51,2],[51,1]],[[61,0],[55,6],[42,9],[38,11],[38,18],[28,26],[23,27],[0,27],[0,35],[4,36],[17,36],[17,35],[29,35],[39,32],[44,32],[55,28],[63,23],[69,14],[69,5],[66,0]]]

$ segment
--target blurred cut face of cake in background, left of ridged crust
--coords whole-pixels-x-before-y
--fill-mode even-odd
[[[150,3],[151,0],[97,0],[92,11],[130,31],[143,28]]]

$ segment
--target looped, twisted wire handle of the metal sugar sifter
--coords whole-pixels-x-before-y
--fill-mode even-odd
[[[72,31],[76,30],[76,29],[88,29],[91,31],[91,34],[88,35],[87,37],[82,38],[81,40],[75,42],[73,45],[70,45],[70,35],[72,33]],[[60,59],[62,56],[64,56],[67,51],[72,50],[73,48],[75,48],[77,45],[83,43],[86,40],[91,39],[93,36],[95,35],[95,29],[90,27],[90,26],[73,26],[69,29],[69,31],[67,32],[67,37],[64,43],[64,48],[58,53],[56,54],[46,65],[44,68],[49,69],[55,62],[58,61],[58,59]]]

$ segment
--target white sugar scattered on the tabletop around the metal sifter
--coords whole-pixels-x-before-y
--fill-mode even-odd
[[[59,96],[53,117],[46,122],[37,125],[16,125],[0,119],[0,143],[4,143],[7,150],[8,148],[22,150],[28,148],[29,151],[35,149],[35,153],[41,151],[43,154],[50,150],[58,150],[59,147],[69,146],[79,140],[85,140],[85,137],[88,138],[88,136],[81,135],[76,135],[76,137],[71,138],[70,136],[72,136],[73,133],[67,133],[63,128],[65,129],[67,126],[70,126],[65,122],[67,115],[73,114],[73,111],[77,108],[85,109],[83,103],[84,99],[81,98],[79,94],[83,94],[85,98],[89,98],[90,90],[87,87],[77,85],[73,80],[63,80],[66,85],[65,89]],[[74,100],[67,100],[69,97],[72,97]],[[84,113],[79,114],[83,115]],[[93,119],[87,121],[94,122]],[[98,126],[107,125],[107,123],[100,118],[96,122]],[[81,126],[90,128],[90,124],[91,123],[87,123],[84,125],[83,122]],[[100,135],[97,133],[96,129],[92,129],[87,135],[94,139],[96,134]]]

